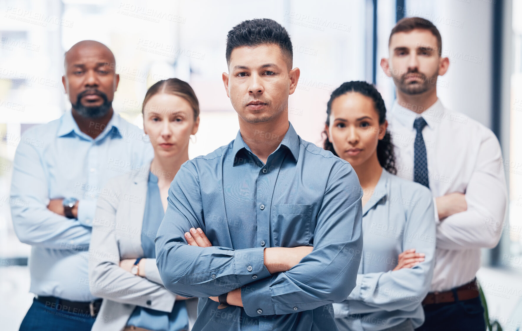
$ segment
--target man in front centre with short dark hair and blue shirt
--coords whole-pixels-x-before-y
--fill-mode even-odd
[[[240,130],[174,177],[156,237],[162,282],[200,298],[195,331],[337,330],[331,303],[361,259],[358,177],[289,123],[300,71],[279,23],[238,24],[226,57]]]

